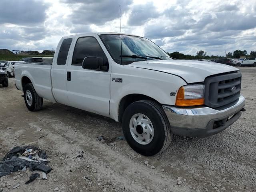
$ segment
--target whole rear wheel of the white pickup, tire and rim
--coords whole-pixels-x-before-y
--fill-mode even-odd
[[[28,83],[24,87],[25,104],[30,111],[39,111],[43,106],[43,98],[38,96],[32,83]]]

